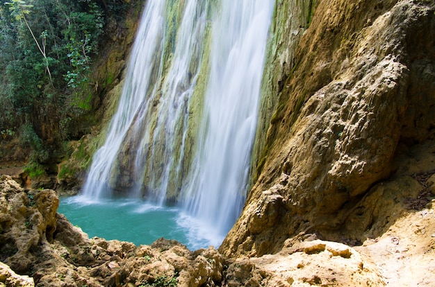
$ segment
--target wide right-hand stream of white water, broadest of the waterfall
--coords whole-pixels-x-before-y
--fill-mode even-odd
[[[240,215],[256,130],[265,44],[274,1],[223,0],[212,28],[211,72],[185,206],[208,234]]]

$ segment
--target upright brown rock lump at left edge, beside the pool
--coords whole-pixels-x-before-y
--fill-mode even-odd
[[[53,240],[59,200],[54,191],[24,192],[7,175],[0,177],[1,261],[27,272],[35,259],[31,250]]]

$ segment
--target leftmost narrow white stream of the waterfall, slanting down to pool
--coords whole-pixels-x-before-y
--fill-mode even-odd
[[[148,1],[142,15],[142,24],[136,35],[129,71],[124,83],[117,112],[110,121],[104,146],[92,157],[83,194],[97,200],[108,196],[108,182],[113,164],[141,103],[147,102],[147,94],[152,89],[151,80],[161,72],[158,55],[163,51],[163,27],[165,26],[165,2]],[[146,47],[146,49],[145,49]]]

